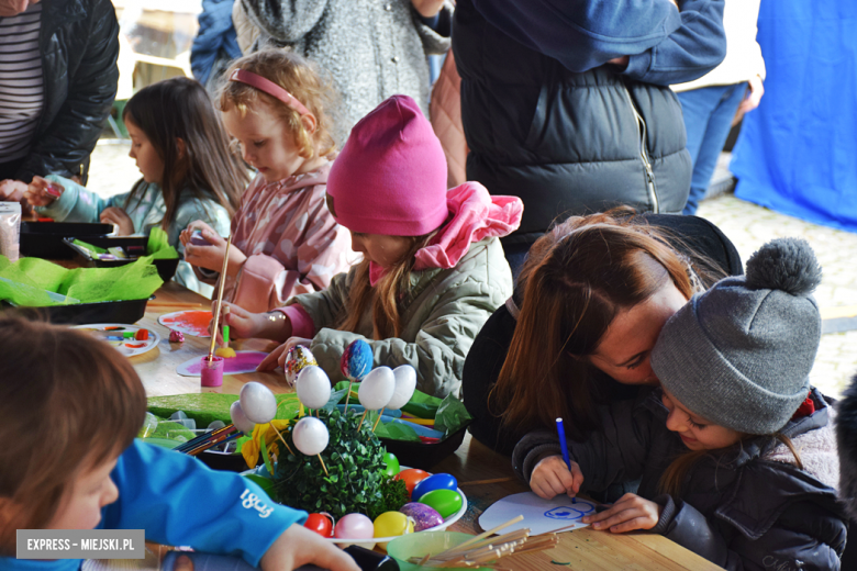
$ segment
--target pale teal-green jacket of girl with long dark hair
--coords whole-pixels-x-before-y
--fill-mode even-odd
[[[116,206],[124,210],[134,222],[135,236],[148,236],[152,228],[160,224],[167,212],[160,187],[154,183],[146,184],[138,201],[134,200],[131,204],[126,204],[130,192],[103,199],[73,180],[56,175],[48,175],[45,178],[59,182],[65,191],[57,200],[47,206],[37,208],[36,211],[58,222],[98,222],[102,210]],[[169,245],[175,247],[182,257],[185,248],[179,242],[179,234],[196,220],[205,222],[221,236],[229,236],[230,215],[226,209],[214,200],[199,200],[189,191],[183,191],[179,197],[176,219],[167,228]],[[212,287],[200,282],[193,273],[193,268],[183,259],[179,262],[174,279],[186,288],[211,298]]]

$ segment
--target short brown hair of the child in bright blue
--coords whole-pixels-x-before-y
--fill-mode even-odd
[[[41,529],[81,470],[131,445],[146,394],[131,362],[87,333],[0,316],[0,555]]]

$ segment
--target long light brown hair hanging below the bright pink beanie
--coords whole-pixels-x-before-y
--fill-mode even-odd
[[[364,259],[354,272],[346,312],[341,317],[337,328],[357,333],[363,314],[371,304],[372,338],[399,337],[404,326],[399,309],[411,289],[414,256],[429,245],[435,234],[437,234],[436,229],[423,236],[408,236],[413,240],[411,247],[401,260],[387,270],[375,287],[369,283],[369,260]]]

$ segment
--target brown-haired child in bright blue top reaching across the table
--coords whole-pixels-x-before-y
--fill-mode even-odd
[[[0,568],[75,571],[80,559],[15,559],[18,529],[145,529],[146,540],[241,557],[264,570],[357,571],[232,472],[135,440],[146,395],[131,363],[82,332],[0,318]],[[251,501],[252,500],[252,501]]]

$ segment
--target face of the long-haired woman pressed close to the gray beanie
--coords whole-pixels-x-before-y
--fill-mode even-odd
[[[668,281],[649,299],[619,313],[590,362],[624,384],[658,384],[649,356],[660,329],[688,300]]]

